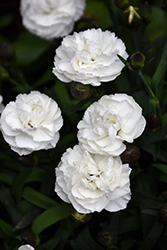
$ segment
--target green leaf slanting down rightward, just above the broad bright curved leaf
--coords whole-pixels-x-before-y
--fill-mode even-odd
[[[29,201],[31,204],[44,209],[49,209],[59,204],[30,187],[26,187],[24,189],[22,197],[25,200]]]

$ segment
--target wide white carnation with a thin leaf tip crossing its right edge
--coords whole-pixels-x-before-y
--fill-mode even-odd
[[[77,81],[99,86],[114,80],[127,59],[125,44],[110,31],[90,29],[65,37],[56,49],[53,74],[63,82]]]

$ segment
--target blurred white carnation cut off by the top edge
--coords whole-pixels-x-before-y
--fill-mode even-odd
[[[23,25],[33,34],[53,39],[69,34],[85,9],[85,0],[21,0]]]

